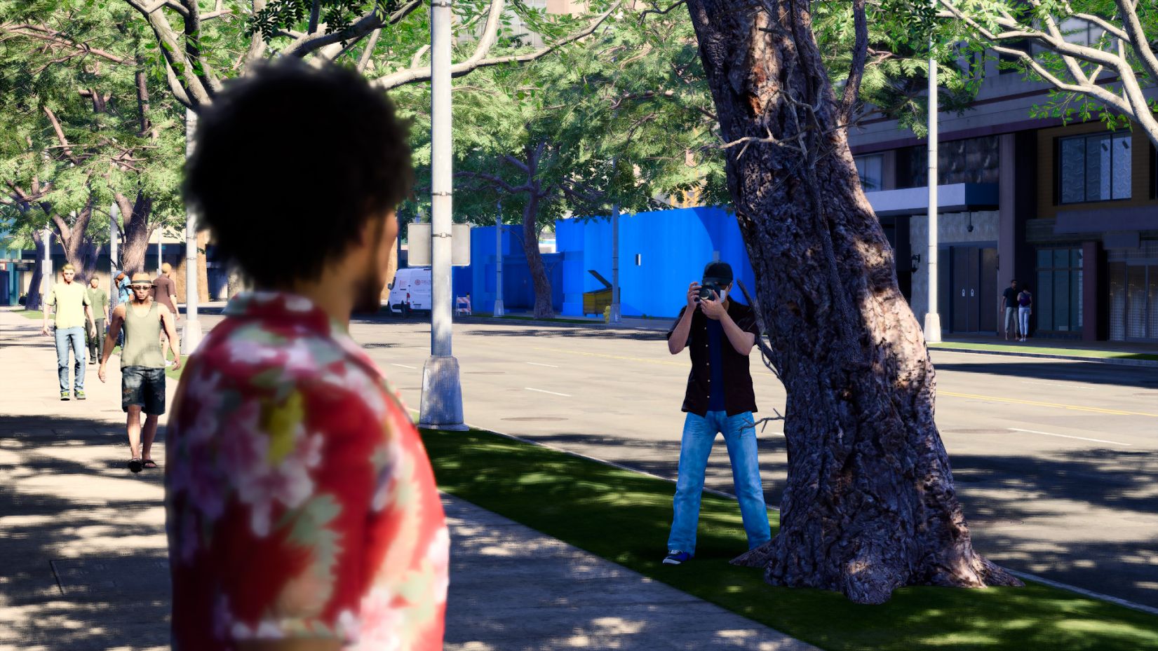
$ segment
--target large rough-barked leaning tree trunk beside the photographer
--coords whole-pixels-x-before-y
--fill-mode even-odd
[[[780,530],[735,562],[862,604],[904,585],[1018,584],[973,549],[933,423],[933,367],[860,190],[808,3],[688,6],[723,134],[753,139],[727,149],[727,180],[787,391]]]

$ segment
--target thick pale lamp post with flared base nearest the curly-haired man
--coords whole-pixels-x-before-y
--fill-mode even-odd
[[[431,356],[418,423],[463,430],[459,361],[450,355],[450,7],[452,0],[431,1]]]

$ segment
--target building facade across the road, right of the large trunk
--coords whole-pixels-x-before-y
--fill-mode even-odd
[[[1138,130],[1031,118],[1047,87],[996,62],[985,72],[970,110],[939,116],[943,330],[997,333],[1002,290],[1018,279],[1034,294],[1035,336],[1158,341],[1155,147]],[[849,142],[923,323],[928,142],[879,116]]]

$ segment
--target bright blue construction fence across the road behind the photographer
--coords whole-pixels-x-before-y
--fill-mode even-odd
[[[518,227],[503,232],[503,304],[507,310],[530,310],[535,291],[527,258],[515,237]],[[454,294],[470,294],[476,312],[494,305],[494,227],[471,229],[469,267],[454,271]],[[563,316],[582,315],[585,291],[603,289],[588,273],[611,280],[611,220],[609,216],[555,222],[558,252],[544,253],[551,279],[551,304]],[[675,317],[684,304],[688,283],[698,281],[713,259],[732,265],[749,290],[755,274],[748,261],[735,216],[718,207],[677,208],[620,216],[620,304],[625,317]],[[741,303],[743,296],[735,289]]]

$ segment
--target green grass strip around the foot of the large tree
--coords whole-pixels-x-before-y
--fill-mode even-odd
[[[1040,584],[906,587],[881,606],[770,586],[728,564],[739,506],[708,494],[695,560],[667,567],[672,482],[481,430],[422,434],[442,490],[828,651],[1158,649],[1158,616]]]

